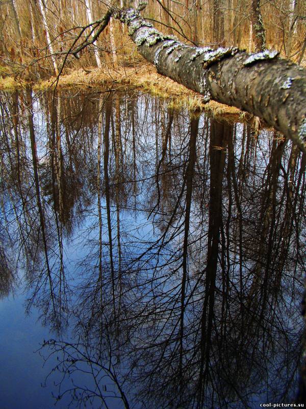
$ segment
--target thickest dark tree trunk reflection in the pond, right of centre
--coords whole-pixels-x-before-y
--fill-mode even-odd
[[[215,304],[215,282],[218,265],[220,226],[222,223],[222,180],[226,144],[232,138],[233,127],[211,120],[210,139],[210,203],[207,265],[205,268],[205,297],[201,319],[201,361],[199,400],[205,401],[205,382],[208,375]]]

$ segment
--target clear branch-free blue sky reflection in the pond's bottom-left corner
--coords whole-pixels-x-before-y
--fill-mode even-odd
[[[25,296],[17,293],[0,301],[0,384],[2,409],[45,409],[53,407],[54,398],[50,386],[42,388],[41,383],[52,370],[55,360],[43,366],[38,352],[43,339],[50,337],[48,328],[43,327],[38,313],[32,309],[30,315],[24,313]],[[57,388],[53,387],[57,393]],[[67,400],[57,407],[67,407]]]

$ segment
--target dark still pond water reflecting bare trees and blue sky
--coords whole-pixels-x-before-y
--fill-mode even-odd
[[[297,402],[295,146],[132,91],[0,110],[1,407]]]

